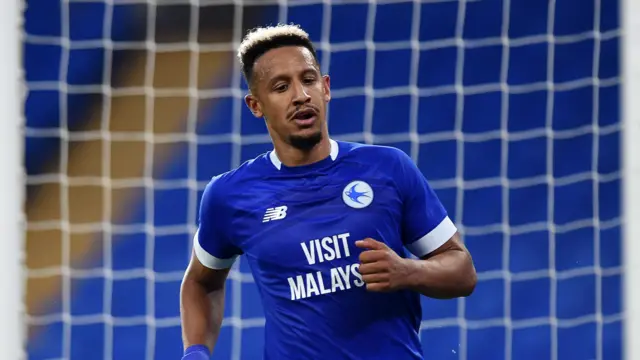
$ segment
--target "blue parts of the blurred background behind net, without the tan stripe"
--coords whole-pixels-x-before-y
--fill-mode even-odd
[[[552,12],[547,2],[507,1],[505,7],[498,0],[288,8],[286,21],[301,24],[316,42],[323,40],[330,10],[332,50],[320,53],[335,92],[332,136],[365,141],[373,134],[376,143],[411,154],[464,231],[480,282],[466,300],[423,300],[422,339],[429,359],[540,360],[550,359],[554,349],[558,359],[622,358],[619,4],[556,3]],[[146,25],[140,17],[144,7],[74,1],[67,8],[52,0],[29,1],[24,42],[28,130],[60,128],[61,108],[68,110],[70,130],[86,125],[87,112],[101,103],[58,85],[109,85],[103,80],[109,49],[100,40],[136,40]],[[375,47],[367,49],[373,10],[369,35]],[[249,11],[258,14],[257,23],[279,20],[277,6]],[[407,41],[416,12],[421,46],[412,49]],[[109,18],[111,29],[105,33]],[[72,45],[98,41],[72,46],[67,63],[60,45],[66,31]],[[398,42],[405,43],[385,47]],[[224,73],[232,75],[210,84],[224,88],[238,80],[232,67]],[[365,95],[364,87],[372,87],[374,96]],[[234,128],[237,107],[240,126]],[[199,139],[222,140],[197,144],[191,174],[198,190],[156,187],[118,220],[154,225],[161,235],[115,232],[112,270],[134,275],[112,282],[100,273],[74,277],[71,316],[89,320],[74,320],[70,338],[62,321],[32,325],[31,359],[101,358],[105,353],[114,359],[180,358],[178,291],[190,251],[193,199],[211,176],[270,148],[268,141],[240,145],[229,136],[234,131],[266,134],[241,97],[222,97],[203,108]],[[186,122],[187,110],[176,121]],[[29,175],[55,172],[51,166],[59,161],[60,138],[42,134],[27,132]],[[174,144],[171,157],[154,159],[163,164],[154,180],[189,178],[193,156],[188,146]],[[162,231],[172,225],[179,230]],[[152,261],[148,241],[153,241]],[[102,268],[104,256],[87,256],[84,268]],[[156,277],[127,273],[144,268]],[[229,280],[225,317],[240,317],[242,323],[225,324],[216,359],[260,358],[263,346],[258,292],[246,264],[240,261],[238,270],[242,276]],[[48,305],[34,319],[60,315],[58,292],[40,301]],[[106,314],[105,301],[111,302]],[[115,325],[101,315],[112,316]]]

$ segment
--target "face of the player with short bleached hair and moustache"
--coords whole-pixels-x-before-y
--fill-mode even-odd
[[[256,117],[266,119],[274,142],[304,150],[322,139],[331,99],[329,77],[320,74],[308,49],[268,51],[256,61],[252,82],[245,101]]]

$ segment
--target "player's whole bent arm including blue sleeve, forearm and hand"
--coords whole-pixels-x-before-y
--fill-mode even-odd
[[[470,295],[477,282],[476,271],[456,226],[411,158],[400,153],[395,165],[403,203],[403,242],[417,259],[400,257],[374,239],[357,242],[358,247],[369,250],[360,255],[360,273],[367,289],[411,289],[439,299]]]

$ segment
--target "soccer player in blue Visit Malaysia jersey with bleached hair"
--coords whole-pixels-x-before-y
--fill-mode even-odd
[[[255,29],[238,57],[274,150],[204,191],[181,288],[184,359],[209,358],[241,254],[264,305],[265,359],[421,359],[420,296],[476,284],[438,197],[404,152],[329,137],[329,76],[300,27]]]

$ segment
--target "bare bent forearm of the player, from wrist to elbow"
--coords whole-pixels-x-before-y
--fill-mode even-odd
[[[450,250],[427,260],[407,260],[406,287],[425,296],[452,299],[469,296],[476,286],[471,256],[463,250]]]

